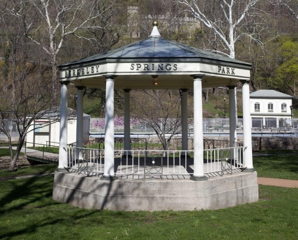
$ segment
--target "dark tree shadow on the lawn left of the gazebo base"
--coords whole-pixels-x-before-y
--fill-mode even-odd
[[[26,209],[37,209],[37,208],[46,208],[61,205],[63,203],[56,202],[52,200],[52,185],[53,177],[52,176],[43,176],[43,177],[33,177],[33,178],[24,178],[16,180],[8,180],[0,182],[0,215],[9,215],[9,219],[14,219],[20,217],[20,213],[15,211],[21,211]],[[64,204],[65,205],[65,204]],[[45,211],[40,211],[40,216],[44,216],[43,219],[33,222],[26,222],[25,227],[20,227],[20,225],[15,225],[14,231],[0,233],[0,239],[2,238],[12,238],[26,233],[34,233],[38,228],[44,226],[51,226],[59,222],[65,221],[65,215],[61,216],[48,216],[46,214],[48,209]],[[67,217],[76,220],[84,217],[88,217],[96,212],[97,210],[85,210],[74,208],[75,211],[69,211]],[[55,211],[55,210],[54,210]],[[97,222],[101,224],[101,222]],[[11,229],[11,228],[8,228]]]

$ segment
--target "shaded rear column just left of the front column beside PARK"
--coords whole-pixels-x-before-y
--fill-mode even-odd
[[[188,150],[188,126],[187,126],[187,89],[181,89],[181,137],[182,151]],[[182,152],[181,155],[188,155],[187,152]]]

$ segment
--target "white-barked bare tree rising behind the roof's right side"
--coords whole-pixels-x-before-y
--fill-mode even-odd
[[[264,19],[256,5],[259,0],[178,0],[187,6],[187,12],[199,19],[203,26],[210,29],[211,36],[218,46],[207,50],[221,53],[235,59],[235,44],[243,37],[263,45],[260,33],[266,28]],[[218,7],[217,7],[218,6]],[[261,11],[264,12],[264,11]],[[202,26],[202,27],[203,27]],[[237,117],[237,88],[235,88]]]

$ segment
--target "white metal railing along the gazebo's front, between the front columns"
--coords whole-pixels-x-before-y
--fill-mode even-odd
[[[104,173],[104,150],[66,147],[67,167],[78,173]],[[243,153],[246,147],[203,150],[204,174],[244,168]],[[131,155],[129,155],[131,154]],[[116,175],[189,175],[193,174],[193,151],[182,150],[114,150]],[[233,156],[231,159],[230,156]]]

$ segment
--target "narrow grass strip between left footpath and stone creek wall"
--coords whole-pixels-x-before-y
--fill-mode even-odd
[[[41,164],[41,165],[33,165],[33,166],[23,166],[17,167],[17,171],[8,172],[8,169],[0,170],[0,180],[4,178],[11,178],[17,176],[26,176],[32,174],[42,174],[42,173],[53,173],[56,171],[58,165],[57,164]]]

